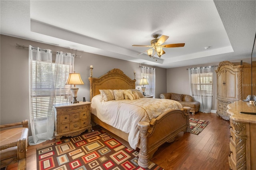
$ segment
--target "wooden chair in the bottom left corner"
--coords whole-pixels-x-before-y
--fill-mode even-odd
[[[8,128],[14,126],[15,128]],[[0,164],[1,168],[18,162],[18,170],[26,170],[28,146],[28,120],[20,123],[0,125]],[[2,130],[2,128],[8,128]]]

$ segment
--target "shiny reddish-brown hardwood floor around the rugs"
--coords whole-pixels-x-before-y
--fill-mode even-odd
[[[210,123],[199,135],[181,132],[174,142],[160,146],[152,162],[165,170],[229,170],[229,121],[214,113],[198,112],[190,117]],[[36,148],[53,142],[28,146],[27,170],[36,170]],[[17,170],[17,164],[8,166],[8,170]]]

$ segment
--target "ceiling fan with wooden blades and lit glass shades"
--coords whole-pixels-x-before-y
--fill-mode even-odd
[[[153,37],[155,39],[151,40],[151,45],[132,45],[137,47],[151,47],[150,49],[147,49],[146,51],[143,51],[142,53],[147,52],[149,57],[153,57],[155,53],[157,53],[158,57],[160,58],[163,54],[165,54],[163,48],[172,48],[172,47],[184,47],[185,43],[173,43],[173,44],[166,44],[162,45],[169,37],[162,35],[160,38],[158,38],[160,35],[155,34]],[[138,55],[142,54],[139,53]]]

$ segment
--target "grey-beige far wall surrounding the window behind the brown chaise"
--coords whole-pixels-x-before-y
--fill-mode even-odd
[[[230,62],[237,63],[237,65],[238,65],[241,60],[243,60],[243,62],[251,63],[251,58],[232,60]],[[189,95],[190,89],[189,89],[189,80],[188,80],[189,78],[188,78],[188,70],[187,69],[193,68],[193,67],[203,67],[203,66],[218,65],[218,64],[219,64],[219,62],[167,69],[167,79],[166,79],[167,92]],[[218,67],[214,67],[214,70],[216,70],[217,68]],[[216,96],[217,96],[217,84],[216,84],[216,72],[214,71],[213,94],[212,94],[212,110],[213,110],[213,112],[217,110]]]

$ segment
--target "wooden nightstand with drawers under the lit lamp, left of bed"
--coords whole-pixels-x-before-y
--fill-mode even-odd
[[[75,104],[55,104],[55,131],[56,142],[62,136],[77,136],[88,130],[91,131],[91,102],[79,102]]]

